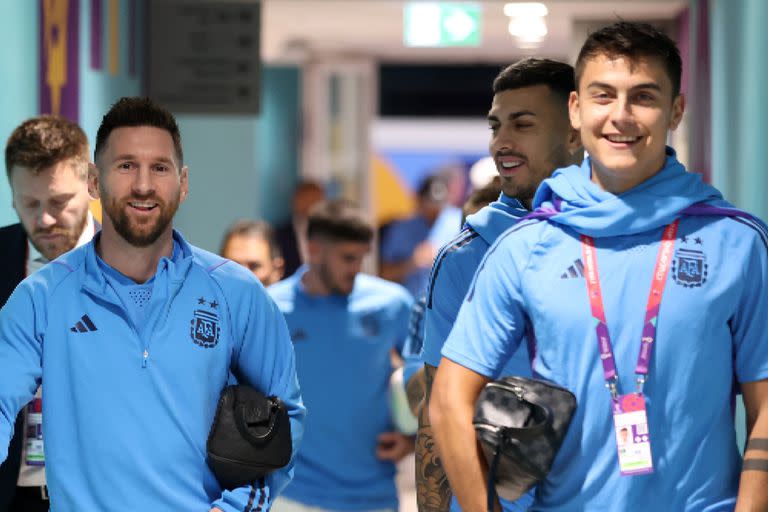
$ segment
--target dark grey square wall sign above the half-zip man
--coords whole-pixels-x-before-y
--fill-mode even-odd
[[[260,4],[149,4],[149,95],[174,112],[257,114]]]

